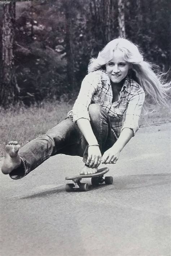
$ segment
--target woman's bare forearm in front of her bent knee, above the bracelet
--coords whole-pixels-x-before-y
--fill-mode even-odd
[[[89,145],[98,144],[88,119],[80,118],[76,123]]]

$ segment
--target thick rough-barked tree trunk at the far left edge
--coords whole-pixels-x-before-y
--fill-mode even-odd
[[[2,84],[0,88],[0,104],[7,106],[17,98],[18,86],[14,74],[14,23],[16,3],[4,3],[2,27]]]

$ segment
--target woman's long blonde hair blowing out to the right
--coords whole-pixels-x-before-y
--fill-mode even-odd
[[[88,65],[88,72],[104,68],[113,58],[113,52],[119,49],[124,53],[124,58],[130,63],[132,78],[140,84],[144,89],[146,96],[158,105],[167,105],[167,93],[170,83],[166,83],[163,79],[163,74],[154,72],[154,65],[143,59],[138,47],[124,38],[117,38],[110,41],[97,58],[92,58]],[[146,97],[148,99],[148,97]],[[148,109],[149,103],[145,100],[144,109]],[[152,103],[150,103],[152,105]]]

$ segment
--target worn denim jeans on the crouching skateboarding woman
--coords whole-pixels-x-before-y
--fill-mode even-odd
[[[98,104],[89,105],[88,112],[93,133],[103,154],[117,140],[111,131],[110,118]],[[57,154],[81,156],[84,162],[87,161],[88,144],[77,124],[73,122],[73,117],[67,117],[45,135],[31,140],[21,148],[19,155],[22,164],[10,173],[10,177],[20,179]]]

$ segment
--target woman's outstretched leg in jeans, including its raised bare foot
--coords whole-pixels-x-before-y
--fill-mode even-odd
[[[45,135],[31,140],[19,152],[16,157],[21,159],[21,165],[17,168],[10,166],[9,172],[5,173],[5,166],[11,165],[9,154],[6,152],[6,158],[2,166],[2,171],[5,174],[10,174],[14,179],[22,178],[37,166],[47,160],[50,156],[58,153],[67,155],[79,155],[81,152],[78,149],[81,144],[82,134],[72,118],[63,120],[61,123],[50,129]],[[7,147],[16,147],[15,145],[7,145]],[[9,150],[8,150],[9,151]],[[14,159],[14,158],[13,158]],[[15,166],[15,165],[14,165]],[[7,169],[7,168],[6,168]]]

